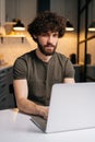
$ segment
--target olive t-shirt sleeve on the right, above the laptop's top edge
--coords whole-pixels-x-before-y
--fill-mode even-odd
[[[66,78],[74,78],[74,68],[69,59],[66,62]]]

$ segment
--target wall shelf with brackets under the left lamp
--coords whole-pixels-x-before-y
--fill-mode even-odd
[[[24,43],[25,35],[0,35],[1,44],[3,44],[3,38],[21,38],[21,42]]]

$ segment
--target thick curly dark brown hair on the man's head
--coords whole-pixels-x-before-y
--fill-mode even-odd
[[[34,36],[47,32],[58,32],[58,37],[62,37],[66,31],[66,19],[57,13],[45,11],[39,13],[28,25],[27,31],[35,40]]]

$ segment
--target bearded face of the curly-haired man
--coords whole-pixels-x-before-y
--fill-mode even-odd
[[[43,33],[37,36],[38,48],[45,56],[51,56],[55,54],[58,44],[58,32]]]

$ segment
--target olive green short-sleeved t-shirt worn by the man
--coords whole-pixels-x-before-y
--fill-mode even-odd
[[[44,62],[33,50],[15,60],[13,78],[27,80],[28,99],[49,105],[52,84],[62,83],[64,78],[74,78],[74,69],[71,61],[59,52],[55,52],[49,62]]]

